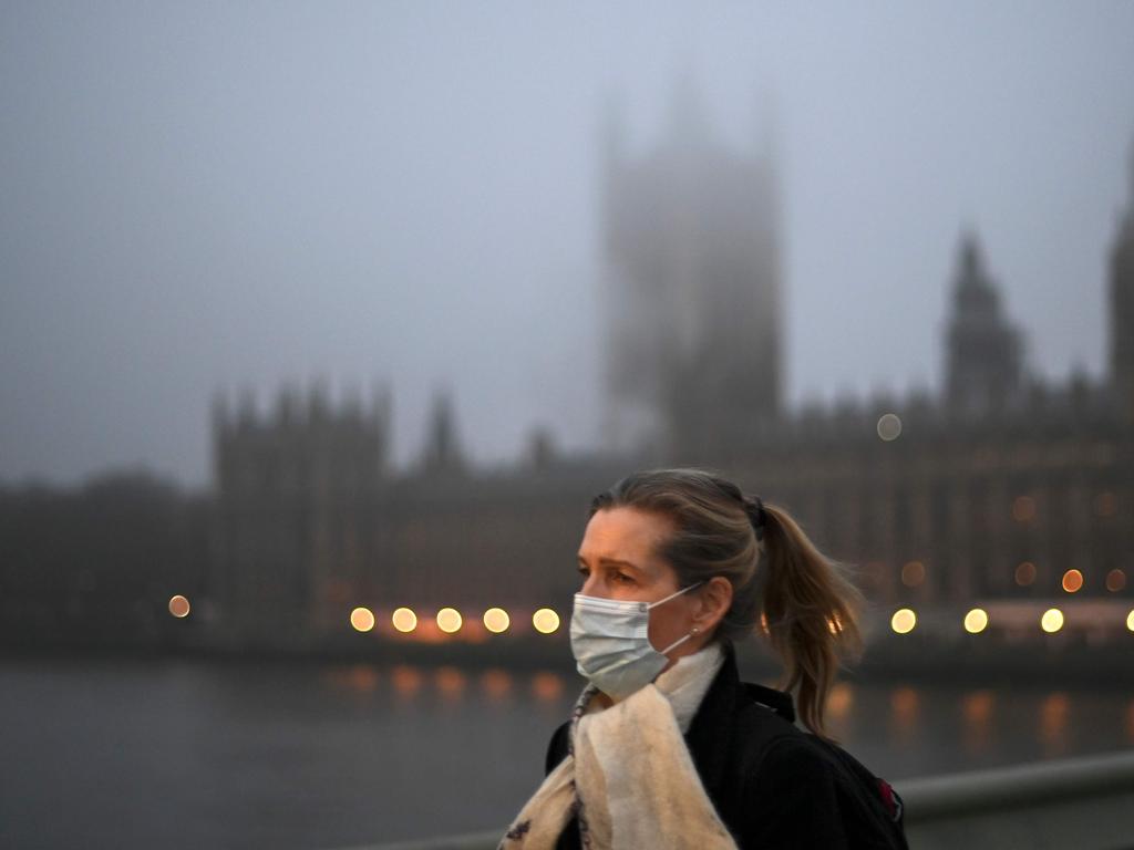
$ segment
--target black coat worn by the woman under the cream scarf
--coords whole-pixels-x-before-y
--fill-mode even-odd
[[[551,737],[548,773],[568,751],[570,723]],[[828,746],[795,725],[789,694],[741,682],[736,657],[725,663],[693,717],[685,743],[709,799],[744,850],[890,848],[883,809]],[[869,774],[866,774],[869,776]],[[870,777],[872,780],[872,777]],[[557,844],[579,847],[578,823]]]

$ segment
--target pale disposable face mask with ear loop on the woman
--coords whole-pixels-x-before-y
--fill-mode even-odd
[[[652,682],[669,658],[666,653],[691,637],[678,638],[661,652],[650,643],[650,609],[704,584],[683,587],[657,602],[619,602],[575,594],[570,618],[570,648],[578,672],[611,699],[621,700]]]

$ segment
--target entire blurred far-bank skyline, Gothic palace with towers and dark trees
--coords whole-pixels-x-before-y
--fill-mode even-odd
[[[395,634],[399,607],[435,635],[442,606],[469,635],[492,606],[523,632],[538,609],[569,612],[591,496],[636,468],[688,465],[785,505],[854,571],[880,619],[908,607],[919,629],[948,632],[980,606],[990,631],[1039,640],[1041,615],[1058,607],[1067,634],[1128,639],[1134,159],[1105,282],[1105,379],[1029,374],[968,233],[951,270],[940,394],[792,410],[772,158],[725,150],[695,104],[679,101],[675,118],[645,155],[627,155],[617,121],[603,139],[601,452],[560,456],[536,434],[514,466],[477,469],[440,397],[420,461],[395,471],[383,392],[364,407],[332,405],[318,385],[286,389],[271,411],[219,396],[213,486],[198,498],[130,481],[67,498],[0,492],[0,631],[127,635],[125,620],[164,636],[166,602],[184,593],[197,629],[240,646],[349,630],[359,606],[379,635]],[[81,556],[42,530],[58,532],[64,515]],[[133,568],[111,578],[100,556]]]

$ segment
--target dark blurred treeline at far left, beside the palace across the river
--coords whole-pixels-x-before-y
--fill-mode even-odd
[[[170,601],[206,596],[210,525],[208,498],[144,470],[0,487],[0,652],[176,646]]]

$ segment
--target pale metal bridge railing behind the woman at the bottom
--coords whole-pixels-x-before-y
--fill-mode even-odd
[[[912,850],[1134,850],[1134,749],[894,787]],[[494,850],[505,828],[350,850]]]

